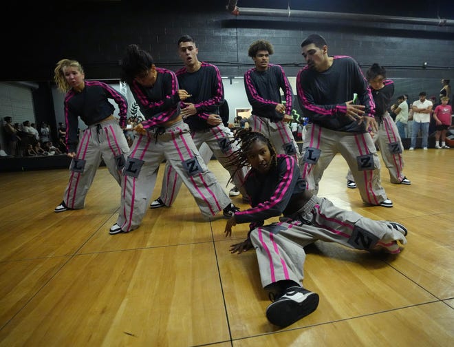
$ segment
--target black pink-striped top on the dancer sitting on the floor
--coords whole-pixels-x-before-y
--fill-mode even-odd
[[[244,187],[252,207],[235,212],[235,221],[250,222],[250,228],[263,225],[268,218],[295,213],[302,207],[305,182],[292,156],[279,154],[277,166],[266,175],[250,169]]]

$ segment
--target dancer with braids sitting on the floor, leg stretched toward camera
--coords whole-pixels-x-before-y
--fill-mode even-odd
[[[230,236],[235,225],[250,223],[248,238],[230,246],[230,252],[255,248],[262,286],[274,295],[266,309],[272,324],[288,326],[318,306],[318,294],[301,286],[307,244],[323,240],[353,249],[399,253],[398,242],[407,243],[403,225],[365,218],[307,191],[294,157],[277,154],[260,132],[241,129],[236,137],[241,149],[230,163],[250,165],[244,187],[252,207],[235,212],[224,233]],[[276,216],[281,216],[280,222],[265,224]]]

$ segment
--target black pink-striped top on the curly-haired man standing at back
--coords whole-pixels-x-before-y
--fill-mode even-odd
[[[283,114],[276,112],[276,105],[282,103],[281,89],[285,96],[285,114],[292,114],[292,86],[280,65],[269,64],[265,71],[259,71],[255,67],[246,71],[244,87],[252,106],[252,114],[268,118],[272,122],[282,120]]]

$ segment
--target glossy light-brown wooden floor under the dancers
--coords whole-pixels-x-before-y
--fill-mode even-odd
[[[0,346],[454,346],[454,149],[404,158],[412,185],[382,170],[392,209],[347,189],[343,158],[329,166],[319,196],[401,222],[408,243],[400,255],[308,247],[304,285],[320,304],[284,329],[266,319],[255,253],[228,251],[247,225],[226,239],[226,220],[204,222],[186,187],[136,231],[109,235],[120,188],[107,169],[85,209],[63,213],[67,170],[0,174]],[[227,171],[209,166],[225,186]]]

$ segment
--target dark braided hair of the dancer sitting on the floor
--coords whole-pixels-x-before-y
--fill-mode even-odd
[[[261,141],[268,146],[271,154],[270,168],[277,167],[276,149],[274,149],[274,146],[271,144],[270,140],[261,132],[253,132],[252,128],[238,129],[235,133],[235,140],[233,141],[239,144],[239,148],[236,151],[233,151],[232,154],[230,154],[227,166],[233,166],[237,169],[235,169],[235,172],[230,177],[228,182],[232,181],[232,177],[235,176],[237,171],[239,171],[242,167],[249,166],[248,152],[250,151],[250,147],[253,143],[255,143],[255,141]]]

